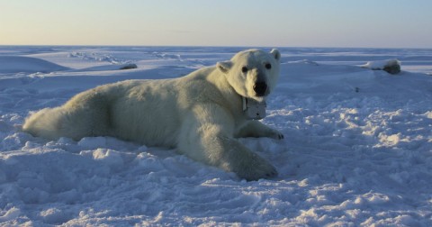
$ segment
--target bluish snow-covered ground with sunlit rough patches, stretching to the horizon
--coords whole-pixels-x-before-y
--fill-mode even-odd
[[[263,121],[285,139],[240,140],[275,179],[114,138],[19,131],[29,112],[87,88],[181,77],[238,50],[0,46],[0,225],[432,225],[432,50],[279,49]],[[402,72],[359,67],[386,59]]]

